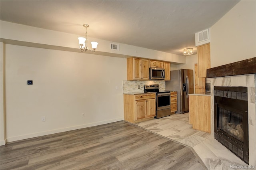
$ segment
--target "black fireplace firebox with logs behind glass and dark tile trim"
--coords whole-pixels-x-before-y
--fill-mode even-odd
[[[214,87],[214,138],[249,164],[247,87]]]

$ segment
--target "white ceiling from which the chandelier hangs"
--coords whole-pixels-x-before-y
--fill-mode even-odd
[[[182,55],[235,0],[0,0],[1,20]],[[227,23],[228,24],[228,23]]]

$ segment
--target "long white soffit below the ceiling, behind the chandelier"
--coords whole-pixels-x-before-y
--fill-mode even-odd
[[[14,45],[33,45],[33,47],[61,49],[66,51],[80,51],[78,49],[78,37],[82,35],[68,34],[15,24],[11,22],[0,21],[1,39]],[[119,51],[110,49],[110,42],[90,37],[91,41],[99,43],[95,54],[119,57],[142,57],[149,59],[159,59],[174,63],[186,63],[185,56],[165,53],[152,49],[136,47],[119,43]],[[18,44],[17,44],[18,43]],[[90,47],[90,46],[89,46]],[[87,51],[90,53],[90,51]]]

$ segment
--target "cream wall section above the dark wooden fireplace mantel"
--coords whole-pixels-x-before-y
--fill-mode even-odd
[[[242,0],[211,28],[211,67],[256,57],[256,1]]]

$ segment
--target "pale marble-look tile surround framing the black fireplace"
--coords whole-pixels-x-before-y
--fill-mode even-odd
[[[248,88],[249,165],[256,166],[256,74],[215,77],[211,80],[211,137],[214,138],[214,86]]]

